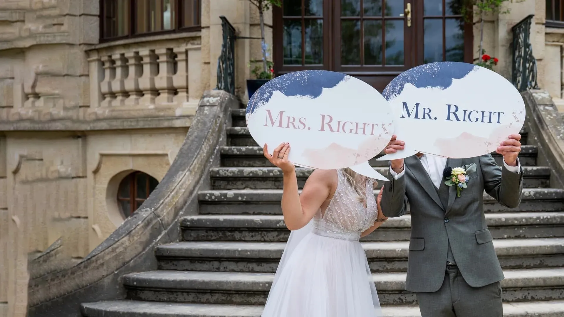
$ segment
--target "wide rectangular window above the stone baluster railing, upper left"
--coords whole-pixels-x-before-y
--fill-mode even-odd
[[[100,39],[200,28],[201,0],[102,0]]]

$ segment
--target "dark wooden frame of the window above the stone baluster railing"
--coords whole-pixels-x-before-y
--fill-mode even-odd
[[[184,6],[182,5],[183,1],[173,0],[174,8],[175,8],[173,28],[171,28],[170,30],[160,30],[155,32],[143,32],[143,33],[134,33],[135,22],[137,20],[135,4],[137,3],[138,0],[126,0],[126,1],[127,1],[127,6],[129,7],[129,16],[127,17],[128,20],[126,21],[127,29],[128,29],[127,34],[124,36],[104,37],[105,27],[106,27],[107,7],[105,7],[104,5],[105,0],[99,0],[100,2],[100,41],[99,42],[100,43],[118,41],[120,39],[127,39],[127,38],[155,36],[155,35],[170,34],[170,33],[193,32],[193,31],[201,30],[201,10],[202,10],[201,0],[196,1],[196,7],[197,7],[196,10],[198,11],[197,17],[199,19],[198,21],[199,25],[193,25],[191,27],[183,27],[181,22],[183,21],[183,17],[184,17],[183,16]],[[148,16],[146,17],[146,19],[150,21],[150,18]]]

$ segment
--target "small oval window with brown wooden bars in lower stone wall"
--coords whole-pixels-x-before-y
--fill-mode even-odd
[[[158,180],[141,171],[127,175],[117,191],[117,202],[124,218],[130,217],[157,187]]]

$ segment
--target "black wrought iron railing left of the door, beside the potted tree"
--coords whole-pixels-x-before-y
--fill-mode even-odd
[[[217,89],[235,95],[235,28],[223,15],[221,27],[223,29],[223,43],[221,55],[217,61]]]

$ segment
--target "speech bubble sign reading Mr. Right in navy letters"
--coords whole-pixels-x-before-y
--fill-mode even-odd
[[[395,113],[402,151],[467,158],[491,153],[525,122],[525,103],[512,83],[490,69],[442,61],[399,74],[382,93]]]

